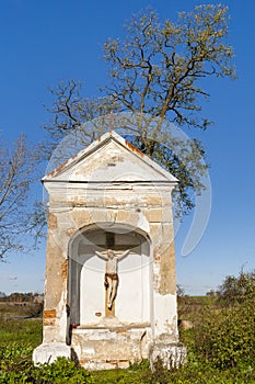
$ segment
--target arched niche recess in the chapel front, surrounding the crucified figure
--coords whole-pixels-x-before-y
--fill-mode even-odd
[[[114,316],[123,324],[151,321],[152,255],[149,236],[123,224],[101,223],[79,229],[69,244],[70,324],[81,327],[103,325],[105,307],[105,261],[95,250],[113,249],[130,253],[118,261],[119,283]]]

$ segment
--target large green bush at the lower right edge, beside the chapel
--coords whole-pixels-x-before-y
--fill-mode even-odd
[[[207,309],[195,332],[195,350],[204,361],[225,369],[253,366],[255,361],[255,300],[247,297],[232,307]]]

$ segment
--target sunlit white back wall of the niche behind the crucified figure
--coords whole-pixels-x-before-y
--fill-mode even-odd
[[[100,323],[105,314],[105,262],[93,256],[81,271],[81,325]],[[129,255],[118,262],[119,284],[115,316],[124,323],[150,321],[150,263],[146,255]],[[102,313],[98,317],[95,314]]]

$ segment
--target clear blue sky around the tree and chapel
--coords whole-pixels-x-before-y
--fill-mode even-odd
[[[217,3],[217,1],[201,1]],[[25,133],[43,138],[50,104],[47,87],[74,78],[86,95],[104,84],[104,41],[123,34],[132,13],[150,4],[162,18],[201,3],[192,0],[84,1],[2,0],[0,2],[0,134],[12,140]],[[235,52],[236,81],[208,81],[211,94],[204,114],[215,126],[199,135],[210,163],[212,206],[207,229],[187,257],[182,247],[193,215],[176,236],[177,282],[188,294],[217,289],[227,274],[255,268],[255,2],[231,0],[230,43]],[[193,132],[188,132],[188,135]],[[43,173],[43,171],[42,171]],[[42,174],[43,177],[43,174]],[[43,197],[42,187],[36,190]],[[43,292],[45,244],[33,255],[11,255],[0,264],[0,291]]]

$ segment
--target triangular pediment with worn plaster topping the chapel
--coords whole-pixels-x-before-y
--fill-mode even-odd
[[[43,181],[176,183],[177,179],[111,131],[47,174]]]

